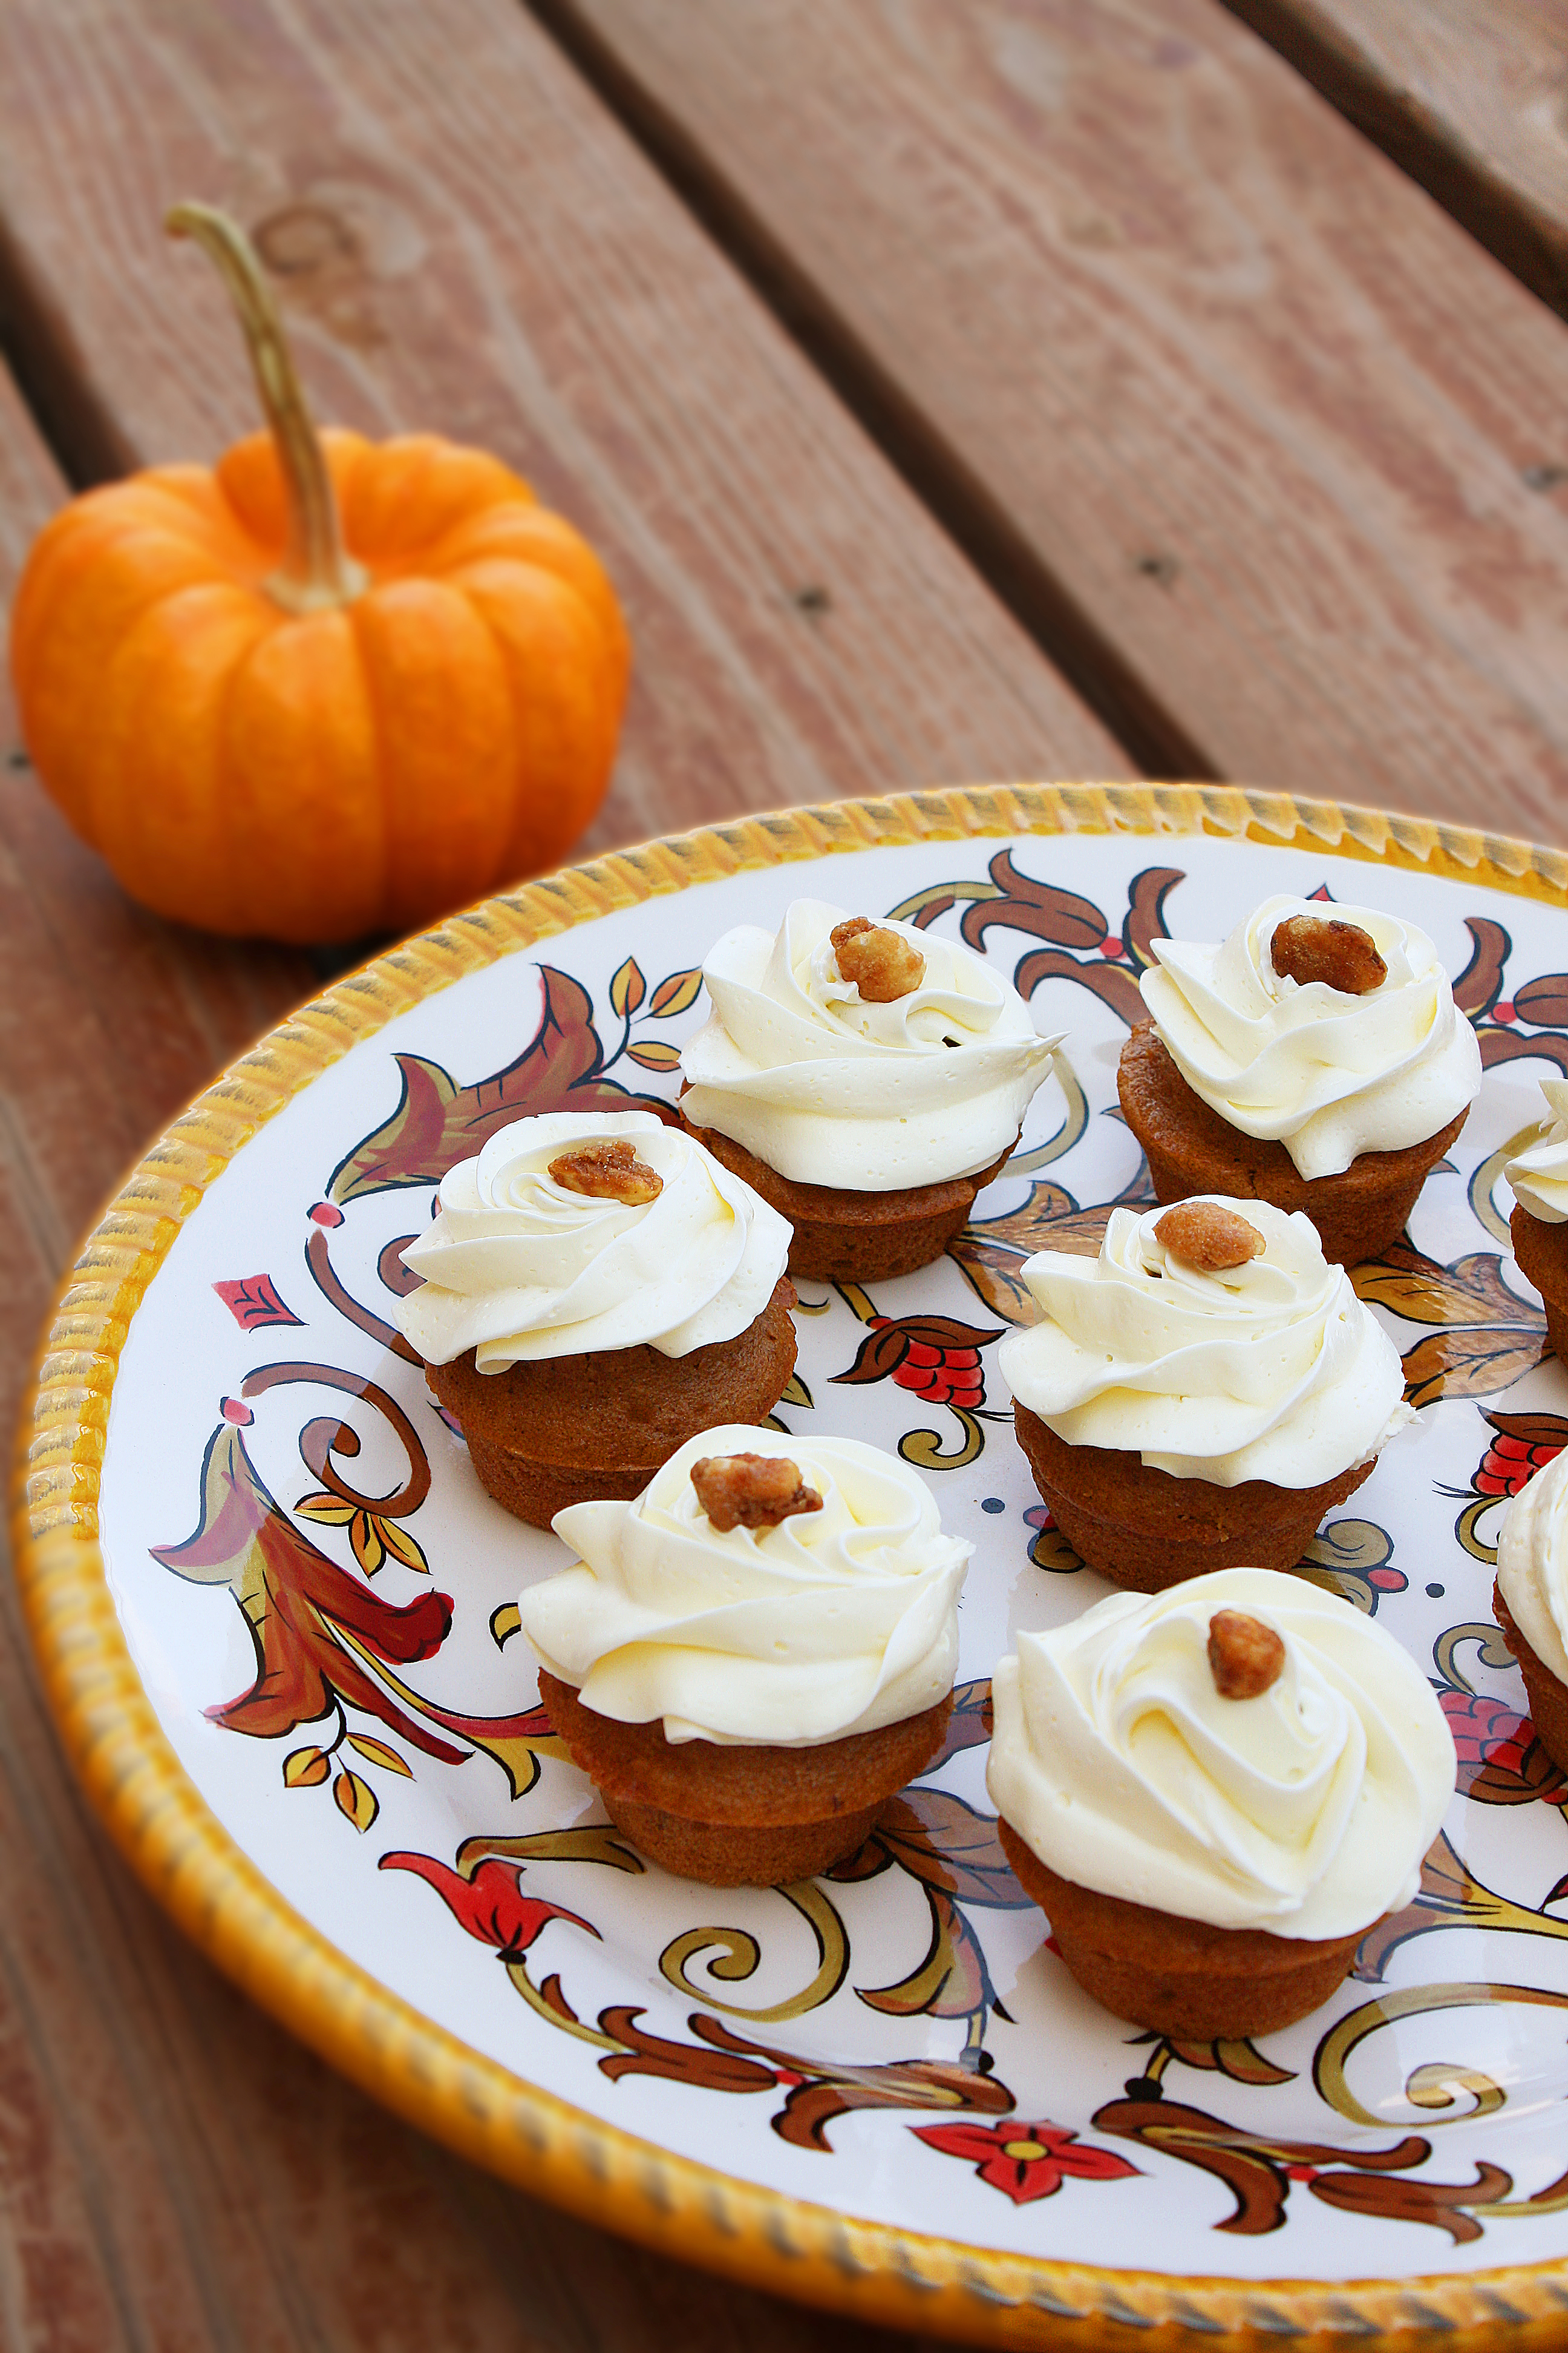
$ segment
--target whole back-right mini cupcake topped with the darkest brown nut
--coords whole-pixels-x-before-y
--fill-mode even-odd
[[[1427,934],[1368,906],[1265,899],[1220,946],[1152,953],[1119,1094],[1159,1200],[1255,1195],[1302,1209],[1340,1266],[1375,1259],[1481,1085]]]

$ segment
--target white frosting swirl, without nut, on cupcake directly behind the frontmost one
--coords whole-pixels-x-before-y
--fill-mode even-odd
[[[1124,1447],[1213,1487],[1319,1487],[1413,1419],[1399,1351],[1300,1209],[1222,1207],[1265,1252],[1218,1275],[1166,1249],[1164,1209],[1112,1209],[1098,1259],[1025,1259],[1044,1320],[1009,1332],[997,1362],[1067,1445]]]

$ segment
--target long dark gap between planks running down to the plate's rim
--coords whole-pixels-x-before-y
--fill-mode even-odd
[[[1041,562],[999,499],[961,452],[879,367],[851,322],[799,271],[710,155],[642,87],[616,52],[583,21],[571,0],[517,0],[611,108],[712,242],[762,296],[780,327],[832,386],[844,407],[898,468],[1001,598],[1041,654],[1093,715],[1126,746],[1138,772],[1187,784],[1222,781],[1225,772],[1161,704],[1093,614]]]

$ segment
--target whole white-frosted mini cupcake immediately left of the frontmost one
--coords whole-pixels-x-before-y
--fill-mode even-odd
[[[604,1809],[665,1871],[780,1885],[860,1847],[943,1746],[973,1546],[893,1454],[703,1431],[522,1595],[538,1692]]]

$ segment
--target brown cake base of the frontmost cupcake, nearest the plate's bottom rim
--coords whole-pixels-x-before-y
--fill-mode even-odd
[[[1368,1920],[1352,1937],[1312,1939],[1185,1920],[1079,1887],[1041,1864],[1006,1819],[997,1828],[1018,1885],[1044,1911],[1084,1993],[1114,2017],[1182,2042],[1293,2026],[1345,1981],[1356,1946],[1375,1927]]]

